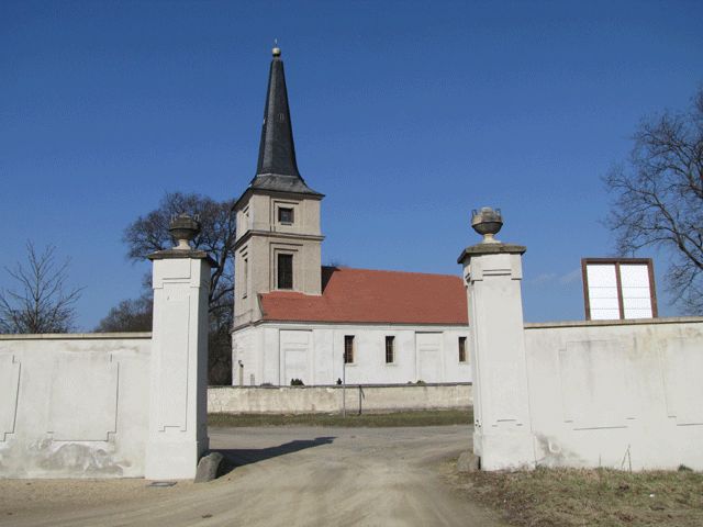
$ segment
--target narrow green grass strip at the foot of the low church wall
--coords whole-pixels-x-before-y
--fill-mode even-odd
[[[243,426],[341,426],[393,427],[468,425],[470,410],[393,412],[388,414],[208,414],[208,424],[220,427]]]

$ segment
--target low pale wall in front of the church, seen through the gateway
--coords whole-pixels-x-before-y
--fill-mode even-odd
[[[211,386],[208,412],[227,414],[339,413],[346,394],[350,413],[468,408],[472,386],[461,384],[375,384],[342,386]]]

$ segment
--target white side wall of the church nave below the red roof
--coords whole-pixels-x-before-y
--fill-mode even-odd
[[[354,336],[354,362],[344,367],[347,335]],[[387,336],[394,337],[391,363],[386,362]],[[460,326],[292,323],[249,326],[232,336],[233,384],[239,384],[239,377],[245,386],[289,385],[291,379],[301,379],[305,385],[334,384],[345,375],[348,384],[470,382],[471,366],[468,360],[459,361],[458,350],[459,337],[467,336],[468,327]],[[242,375],[239,360],[244,365]]]

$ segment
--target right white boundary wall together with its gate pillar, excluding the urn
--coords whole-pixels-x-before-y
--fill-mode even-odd
[[[525,250],[459,257],[481,468],[703,470],[703,317],[525,325]]]

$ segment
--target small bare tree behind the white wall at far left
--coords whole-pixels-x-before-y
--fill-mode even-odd
[[[26,265],[5,268],[16,289],[0,290],[0,333],[67,333],[74,328],[80,289],[67,285],[68,265],[56,262],[56,247],[41,254],[26,244]]]

